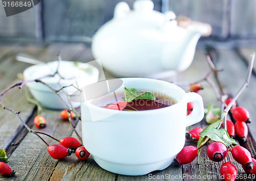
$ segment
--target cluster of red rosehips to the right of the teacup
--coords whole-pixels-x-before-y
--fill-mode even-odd
[[[198,93],[201,89],[202,88],[200,84],[192,84],[189,87],[190,92]],[[231,101],[232,98],[226,99],[224,101],[224,106],[227,107]],[[187,103],[187,115],[189,115],[192,110],[193,103]],[[226,120],[225,128],[227,133],[229,134],[229,138],[234,138],[236,135],[239,141],[244,143],[246,142],[246,138],[248,135],[248,127],[246,123],[251,122],[250,114],[246,108],[237,106],[237,103],[235,101],[233,102],[229,110],[231,117],[234,121],[233,123],[230,120]],[[223,123],[222,127],[224,128]],[[186,139],[197,142],[200,138],[200,132],[202,131],[203,129],[200,127],[191,129],[186,133]],[[195,146],[185,146],[177,154],[176,159],[174,160],[174,164],[180,165],[191,163],[196,158],[198,150],[202,146],[199,146],[198,148],[196,148]],[[256,160],[251,157],[250,152],[246,148],[240,145],[230,145],[229,148],[230,149],[228,149],[228,147],[222,142],[212,142],[207,147],[207,156],[211,161],[221,162],[228,155],[228,151],[230,151],[233,159],[242,165],[246,173],[256,174]],[[222,178],[224,178],[224,180],[235,180],[238,172],[236,167],[234,167],[230,162],[227,162],[227,159],[225,159],[225,163],[223,163],[221,166],[220,174]]]

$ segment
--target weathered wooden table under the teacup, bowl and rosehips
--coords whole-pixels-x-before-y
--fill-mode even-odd
[[[223,46],[225,47],[225,46]],[[223,86],[225,94],[234,95],[243,84],[250,53],[256,51],[256,48],[225,48],[213,49],[202,47],[198,48],[195,58],[191,66],[184,72],[176,76],[176,82],[195,82],[203,78],[210,67],[206,61],[206,54],[212,57],[217,69],[224,69],[219,72],[219,80]],[[28,53],[41,61],[49,62],[56,60],[58,51],[62,52],[63,60],[87,62],[93,60],[90,47],[82,43],[52,43],[48,45],[36,44],[11,44],[0,46],[0,90],[8,88],[20,79],[17,74],[23,73],[28,63],[18,62],[15,60],[17,53]],[[111,75],[107,74],[108,78]],[[216,81],[214,76],[210,76],[211,80]],[[168,80],[168,79],[165,79]],[[200,92],[203,97],[205,106],[214,104],[219,106],[214,92],[210,86],[203,82],[205,87]],[[256,77],[252,74],[250,84],[238,99],[240,106],[246,107],[251,115],[252,123],[249,124],[249,136],[247,143],[244,144],[252,154],[256,156]],[[3,101],[14,110],[20,111],[20,116],[27,121],[27,124],[34,130],[38,130],[33,125],[33,118],[36,115],[35,105],[28,103],[25,97],[25,87],[19,90],[13,89],[10,93],[3,97]],[[42,113],[47,120],[47,127],[42,129],[53,137],[61,139],[63,137],[76,135],[72,131],[72,127],[68,121],[62,120],[59,116]],[[77,130],[81,135],[81,122],[75,121]],[[205,121],[191,126],[206,127]],[[73,154],[62,160],[52,159],[46,145],[41,142],[36,135],[29,133],[23,125],[21,125],[18,117],[4,109],[0,109],[0,148],[6,149],[9,156],[8,165],[16,171],[14,177],[0,176],[0,180],[216,180],[220,175],[221,163],[210,161],[206,155],[206,148],[191,163],[183,166],[169,166],[162,171],[154,171],[151,175],[142,176],[125,176],[118,175],[100,168],[90,156],[86,161],[77,160]],[[42,136],[49,144],[57,144],[56,141]],[[186,145],[196,145],[193,142],[186,141]],[[244,174],[242,167],[236,162],[232,162],[238,169],[240,175]],[[247,179],[249,180],[249,179]]]

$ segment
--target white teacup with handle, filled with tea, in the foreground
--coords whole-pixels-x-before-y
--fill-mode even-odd
[[[124,86],[158,92],[177,103],[154,110],[121,111],[81,102],[83,144],[100,167],[113,173],[143,175],[163,170],[183,148],[186,126],[203,119],[202,98],[161,80],[121,80],[120,90]],[[188,102],[194,102],[194,109],[186,116]],[[92,119],[95,115],[100,119]]]

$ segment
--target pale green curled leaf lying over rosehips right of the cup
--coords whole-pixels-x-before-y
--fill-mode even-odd
[[[209,128],[206,131],[200,132],[200,137],[208,137],[216,142],[221,142],[226,146],[231,145],[235,140],[230,138],[225,129]]]

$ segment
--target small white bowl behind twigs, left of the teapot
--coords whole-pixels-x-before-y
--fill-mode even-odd
[[[78,66],[77,66],[78,65]],[[24,71],[24,80],[35,80],[40,79],[47,83],[55,90],[59,90],[63,86],[69,86],[73,84],[75,87],[80,88],[85,85],[97,82],[99,77],[99,71],[93,65],[78,62],[75,64],[72,61],[61,61],[59,64],[59,75],[56,74],[54,77],[46,77],[53,75],[58,66],[58,61],[49,62],[46,64],[37,64],[28,67]],[[45,78],[42,78],[45,77]],[[67,105],[59,98],[59,96],[48,86],[40,82],[27,82],[30,93],[33,97],[43,106],[50,109],[66,109]],[[74,93],[77,88],[69,86],[60,90],[60,96],[69,104],[69,96]],[[65,92],[67,94],[65,94]],[[73,107],[79,107],[80,102],[72,102]],[[70,104],[69,104],[70,105]]]

